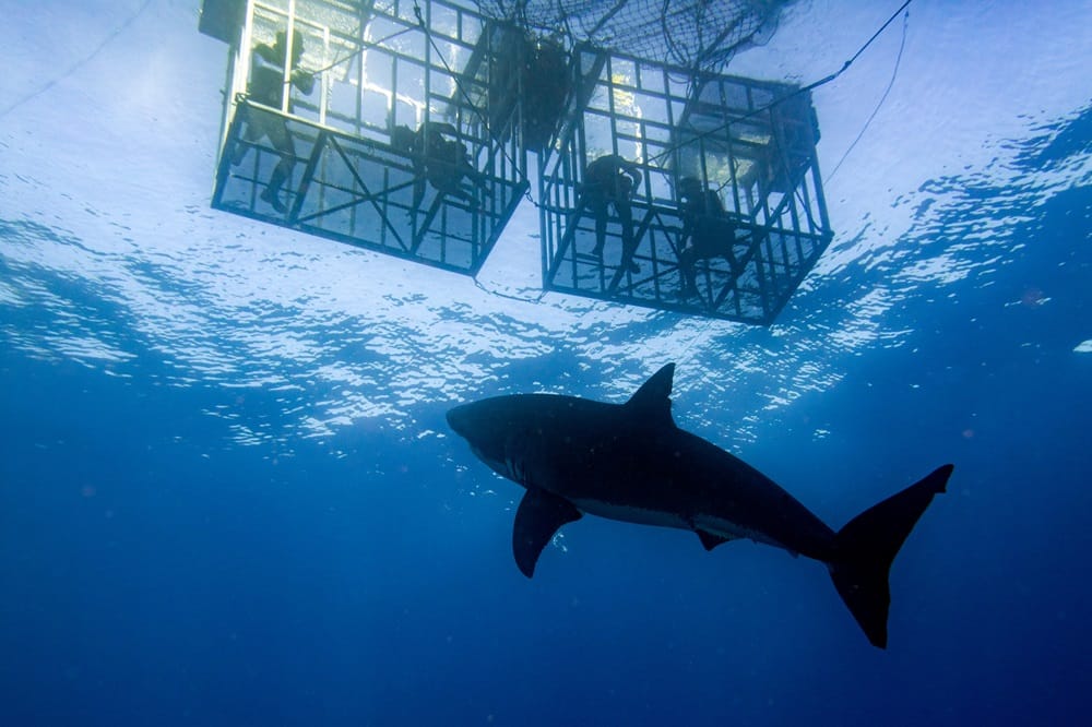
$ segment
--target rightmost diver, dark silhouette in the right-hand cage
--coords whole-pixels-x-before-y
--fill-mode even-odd
[[[682,276],[682,298],[698,295],[698,260],[722,257],[737,274],[739,262],[733,246],[736,243],[736,224],[728,217],[720,195],[695,177],[679,180],[679,215],[682,233],[679,235],[679,272]]]

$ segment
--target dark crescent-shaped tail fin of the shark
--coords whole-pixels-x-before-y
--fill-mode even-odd
[[[917,519],[945,491],[953,465],[945,465],[902,492],[860,513],[834,536],[828,567],[834,587],[874,646],[887,647],[888,572]]]

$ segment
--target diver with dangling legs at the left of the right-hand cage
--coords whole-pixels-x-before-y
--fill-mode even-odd
[[[575,210],[577,217],[584,210],[592,211],[592,216],[595,218],[595,248],[592,253],[596,258],[602,258],[607,236],[607,208],[614,207],[615,214],[621,222],[621,262],[631,273],[640,273],[641,266],[632,259],[636,241],[630,198],[642,179],[633,162],[617,154],[601,156],[584,169],[584,183]]]

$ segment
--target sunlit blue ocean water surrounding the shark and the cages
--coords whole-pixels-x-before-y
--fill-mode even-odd
[[[866,4],[802,7],[739,62],[834,70],[891,12]],[[899,27],[817,92],[838,236],[770,329],[531,302],[533,221],[476,287],[213,212],[197,3],[11,5],[0,723],[1080,719],[1087,2],[915,2],[894,83]],[[444,412],[621,402],[673,360],[679,426],[833,527],[956,464],[892,569],[887,651],[826,569],[749,543],[585,517],[519,573],[521,490]]]

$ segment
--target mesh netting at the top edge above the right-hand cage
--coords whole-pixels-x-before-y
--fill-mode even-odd
[[[723,67],[770,38],[791,0],[478,0],[483,14],[686,68]]]

